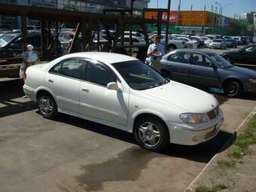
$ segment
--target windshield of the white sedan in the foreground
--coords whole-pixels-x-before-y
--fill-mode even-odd
[[[150,66],[139,60],[112,64],[133,90],[147,90],[169,83]]]

